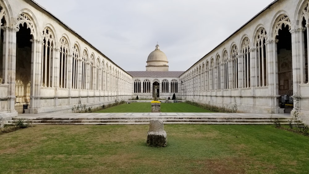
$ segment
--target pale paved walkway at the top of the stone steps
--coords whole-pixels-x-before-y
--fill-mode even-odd
[[[290,114],[267,114],[267,113],[41,113],[41,114],[19,114],[16,118],[37,119],[37,118],[106,118],[106,117],[291,117]]]

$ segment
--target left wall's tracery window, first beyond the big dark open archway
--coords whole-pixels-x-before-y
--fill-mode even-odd
[[[48,27],[43,31],[41,86],[52,87],[53,76],[53,33]]]

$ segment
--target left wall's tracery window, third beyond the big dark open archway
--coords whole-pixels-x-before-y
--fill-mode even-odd
[[[72,53],[72,59],[73,59],[73,64],[72,64],[72,89],[78,89],[78,65],[79,65],[79,49],[76,44],[73,46],[73,53]]]

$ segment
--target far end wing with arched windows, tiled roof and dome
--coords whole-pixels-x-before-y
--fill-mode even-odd
[[[172,98],[174,93],[176,98],[182,98],[179,77],[184,71],[168,71],[167,56],[160,50],[159,44],[155,46],[155,51],[150,52],[146,63],[146,71],[127,71],[134,83],[134,96],[149,99],[154,97],[156,91],[161,99]]]

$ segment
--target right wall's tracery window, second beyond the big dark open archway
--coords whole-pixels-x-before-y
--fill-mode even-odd
[[[250,41],[246,38],[243,42],[243,87],[250,87]]]

